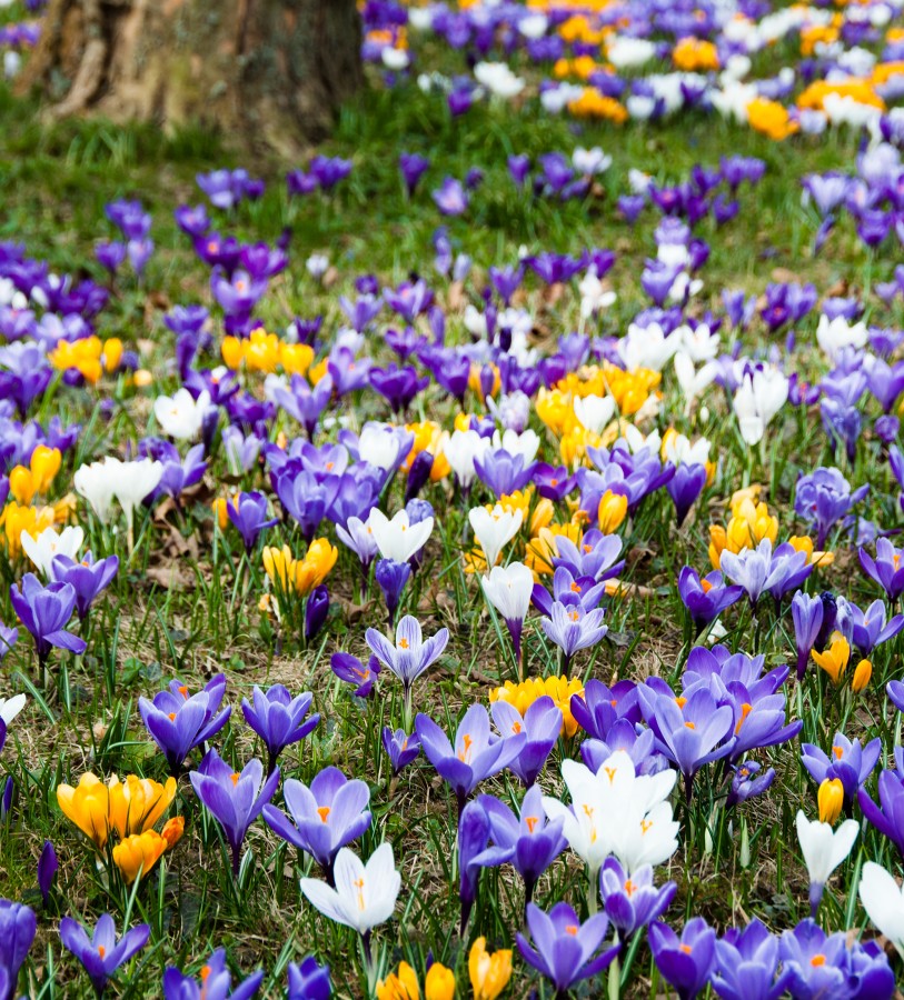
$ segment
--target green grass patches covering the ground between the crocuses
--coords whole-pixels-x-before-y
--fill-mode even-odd
[[[58,386],[40,404],[40,418],[57,413],[63,422],[78,421],[86,431],[78,446],[79,461],[121,451],[146,430],[155,396],[177,388],[167,369],[172,340],[161,317],[172,304],[209,303],[207,277],[197,263],[189,241],[178,231],[172,210],[181,202],[199,200],[195,174],[218,166],[245,163],[240,150],[227,150],[216,137],[200,130],[185,131],[161,140],[151,128],[115,128],[98,121],[69,121],[42,126],[37,107],[0,90],[0,240],[23,242],[30,256],[47,260],[52,270],[77,277],[103,278],[93,261],[95,242],[111,236],[103,207],[115,198],[137,197],[153,214],[152,236],[158,250],[141,284],[127,278],[116,287],[108,309],[98,323],[102,338],[121,337],[138,347],[142,366],[155,374],[149,392],[136,391],[125,380],[102,383],[98,390],[71,390]],[[613,166],[598,189],[583,201],[560,203],[519,192],[510,182],[505,159],[513,153],[532,158],[575,144],[600,144],[613,157]],[[403,150],[427,153],[430,171],[415,199],[404,197],[397,170]],[[688,114],[664,124],[615,128],[576,124],[507,108],[478,106],[460,120],[449,117],[445,104],[420,93],[413,84],[395,91],[374,86],[359,101],[342,110],[336,134],[322,152],[350,157],[351,177],[329,197],[289,201],[282,173],[297,164],[262,162],[252,166],[267,180],[259,202],[242,206],[222,227],[241,239],[274,242],[286,227],[292,231],[292,267],[277,281],[261,309],[268,329],[285,328],[292,316],[325,317],[325,330],[335,331],[339,320],[337,293],[348,293],[355,274],[372,272],[384,282],[398,282],[411,273],[443,284],[447,306],[451,292],[435,282],[431,238],[440,224],[430,189],[445,174],[464,177],[478,167],[485,180],[474,196],[471,210],[447,220],[456,250],[469,253],[475,272],[464,289],[464,300],[479,302],[484,273],[491,263],[514,262],[518,249],[554,249],[577,253],[585,248],[607,247],[618,260],[610,274],[618,292],[616,307],[603,322],[602,333],[620,333],[644,304],[638,276],[643,260],[655,254],[652,231],[656,220],[647,211],[635,229],[615,212],[615,198],[627,189],[627,173],[639,169],[660,182],[685,179],[696,163],[714,167],[727,150],[756,156],[767,163],[763,183],[741,194],[737,219],[716,231],[712,221],[698,236],[712,247],[703,277],[705,290],[694,307],[721,311],[723,288],[743,288],[761,294],[772,280],[812,281],[821,294],[864,292],[871,282],[886,279],[895,253],[885,249],[867,257],[847,223],[841,223],[818,258],[811,251],[818,224],[801,204],[799,178],[811,171],[847,169],[855,153],[850,133],[833,132],[821,139],[796,139],[776,144],[747,129],[713,118]],[[338,281],[321,287],[310,279],[302,262],[311,252],[325,251],[338,269]],[[577,323],[578,300],[568,293],[560,302],[545,299],[538,282],[528,284],[527,302],[537,316],[538,331],[546,341]],[[891,312],[873,299],[871,320],[886,327],[902,323],[900,308]],[[464,339],[461,309],[450,307],[449,340]],[[798,333],[811,337],[815,317]],[[538,338],[543,342],[543,338]],[[747,338],[748,350],[782,346],[784,334],[769,338],[755,326]],[[374,351],[387,352],[377,344]],[[809,362],[814,372],[819,361]],[[103,416],[101,400],[112,396],[113,416]],[[715,393],[708,400],[708,419],[697,414],[683,420],[675,387],[666,386],[663,412],[675,424],[693,429],[716,442],[719,469],[715,482],[697,506],[696,514],[682,529],[674,526],[672,506],[659,497],[645,506],[624,529],[628,552],[627,582],[648,588],[652,597],[612,602],[608,621],[612,637],[577,661],[577,672],[610,679],[643,679],[659,674],[674,680],[688,651],[683,632],[684,611],[675,590],[681,567],[707,564],[706,526],[711,518],[724,521],[727,498],[742,484],[764,484],[771,506],[781,519],[779,537],[793,533],[789,502],[798,474],[835,459],[821,430],[818,416],[801,412],[776,423],[762,458],[741,442],[731,422],[725,400]],[[434,390],[419,404],[423,417],[450,426],[453,410]],[[356,422],[386,417],[375,401],[355,399],[347,416]],[[534,420],[537,430],[543,428]],[[666,424],[664,423],[664,427]],[[295,433],[281,414],[277,429]],[[546,438],[547,447],[549,444]],[[853,467],[842,466],[853,483],[870,482],[864,517],[878,524],[896,523],[894,483],[880,463],[877,441],[862,442]],[[78,462],[77,462],[78,463]],[[66,486],[73,471],[67,466],[58,482]],[[463,941],[456,933],[457,874],[454,863],[454,802],[446,787],[423,759],[398,779],[389,776],[379,751],[379,733],[390,721],[398,724],[400,700],[391,683],[381,686],[379,700],[365,711],[329,670],[337,650],[365,651],[364,628],[379,626],[383,617],[377,588],[357,606],[350,581],[357,580],[354,558],[340,551],[330,577],[334,597],[328,627],[309,647],[286,632],[276,641],[274,627],[258,611],[261,570],[259,562],[241,560],[235,534],[213,524],[210,502],[223,491],[225,466],[215,460],[202,484],[182,509],[148,513],[137,526],[139,538],[129,558],[119,536],[101,538],[88,518],[86,529],[95,551],[117,551],[122,570],[82,632],[89,653],[83,658],[54,658],[54,677],[42,686],[31,656],[28,637],[3,661],[4,689],[31,694],[27,712],[10,729],[2,767],[13,778],[16,794],[7,828],[0,837],[0,887],[7,898],[22,899],[39,908],[39,940],[28,963],[28,984],[41,998],[89,994],[85,977],[71,957],[60,954],[57,917],[74,913],[87,918],[103,910],[122,920],[147,920],[152,928],[150,947],[136,960],[117,987],[121,997],[155,996],[165,966],[198,970],[211,948],[225,944],[235,970],[249,972],[262,966],[267,972],[264,992],[276,996],[285,980],[288,961],[314,952],[329,960],[336,993],[360,996],[365,989],[359,963],[352,959],[354,938],[312,914],[299,900],[297,879],[311,872],[309,859],[299,857],[262,823],[254,826],[238,884],[229,876],[219,828],[197,808],[190,786],[180,784],[177,809],[188,817],[183,841],[152,879],[129,894],[105,884],[90,850],[62,818],[53,789],[61,781],[76,782],[85,770],[109,774],[138,771],[161,779],[166,768],[149,742],[137,712],[137,699],[151,696],[175,677],[192,687],[218,671],[229,678],[227,700],[232,724],[221,744],[228,759],[246,761],[256,747],[240,724],[239,701],[252,684],[285,682],[295,691],[310,690],[322,721],[301,746],[286,754],[285,774],[310,779],[326,764],[364,778],[371,788],[374,820],[358,847],[368,856],[383,840],[394,844],[403,872],[401,902],[396,922],[379,934],[384,968],[400,959],[423,970],[428,952],[458,971],[466,981],[466,946],[478,934],[494,944],[510,947],[519,924],[520,889],[510,871],[485,873],[479,906]],[[264,483],[259,473],[242,481],[245,488]],[[68,488],[68,486],[66,486]],[[400,489],[395,487],[389,509],[395,509]],[[417,613],[427,633],[447,626],[453,641],[426,682],[417,690],[418,708],[447,728],[454,728],[464,706],[486,701],[487,687],[511,676],[507,640],[486,611],[479,587],[461,568],[465,509],[444,486],[427,494],[440,517],[427,551],[423,571],[409,587],[404,609]],[[483,492],[474,500],[486,500]],[[799,526],[798,526],[799,527]],[[300,548],[297,529],[280,526],[269,541],[287,541]],[[109,549],[112,546],[112,549]],[[19,579],[20,561],[3,561],[6,582]],[[856,572],[852,553],[840,548],[835,564],[817,577],[817,586],[844,592],[863,603],[874,588]],[[6,593],[0,618],[12,620]],[[759,652],[769,666],[793,657],[789,617],[764,616],[754,621],[737,608],[727,616],[727,644],[733,650]],[[281,647],[281,651],[277,650]],[[526,636],[529,672],[547,673],[556,666],[555,650],[545,639],[538,620],[532,619]],[[863,739],[881,734],[886,748],[900,737],[900,722],[891,720],[883,701],[883,682],[898,673],[904,641],[882,647],[874,660],[871,690],[851,701],[835,692],[824,677],[809,677],[796,711],[804,720],[801,742],[828,747],[835,728]],[[897,729],[895,730],[895,726]],[[548,788],[556,786],[556,761],[573,753],[563,744],[547,768]],[[805,916],[806,876],[802,868],[793,821],[798,807],[814,812],[814,788],[803,773],[794,750],[784,748],[762,754],[779,771],[772,792],[731,816],[717,808],[721,788],[715,773],[697,780],[694,806],[681,811],[681,849],[662,872],[676,879],[679,891],[669,919],[704,913],[719,928],[757,914],[782,929]],[[510,780],[490,782],[487,790],[517,801]],[[57,888],[47,908],[36,891],[36,866],[46,839],[60,858]],[[742,849],[742,839],[748,847]],[[222,858],[220,857],[222,854]],[[852,860],[828,888],[822,920],[831,929],[863,926],[864,917],[854,899],[855,871],[863,859],[893,861],[892,851],[873,830],[863,832]],[[580,866],[565,854],[542,882],[536,901],[548,906],[582,884]],[[630,987],[633,996],[654,996],[656,978],[645,947],[637,954]],[[517,966],[511,996],[526,994],[536,980]],[[595,996],[596,987],[584,988]]]

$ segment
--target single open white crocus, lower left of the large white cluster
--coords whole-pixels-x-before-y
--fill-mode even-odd
[[[319,879],[301,879],[301,891],[325,917],[365,934],[385,923],[396,908],[401,876],[396,871],[393,846],[381,843],[367,864],[348,848],[336,856],[336,888]]]

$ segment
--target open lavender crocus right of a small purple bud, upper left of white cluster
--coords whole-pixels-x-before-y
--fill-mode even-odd
[[[415,730],[424,753],[437,773],[449,784],[458,800],[458,811],[474,789],[491,778],[520,753],[527,737],[524,733],[501,739],[489,728],[489,714],[483,704],[473,704],[458,726],[455,746],[428,716],[418,714]]]

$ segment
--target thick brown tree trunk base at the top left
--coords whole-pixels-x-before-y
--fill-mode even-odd
[[[295,154],[362,79],[355,0],[50,0],[19,88],[48,116],[218,127]]]

